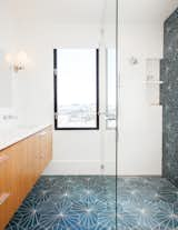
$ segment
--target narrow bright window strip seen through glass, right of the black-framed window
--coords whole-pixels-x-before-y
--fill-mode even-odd
[[[116,49],[107,49],[107,128],[116,128]]]

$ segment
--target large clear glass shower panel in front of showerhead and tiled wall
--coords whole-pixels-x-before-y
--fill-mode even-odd
[[[178,228],[178,2],[156,2],[119,4],[118,230]]]

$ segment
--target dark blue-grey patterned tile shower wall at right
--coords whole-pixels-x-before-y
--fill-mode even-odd
[[[165,22],[164,59],[160,64],[164,109],[162,173],[178,186],[178,9]]]

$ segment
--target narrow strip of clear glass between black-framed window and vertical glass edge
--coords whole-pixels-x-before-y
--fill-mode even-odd
[[[117,229],[116,181],[116,37],[117,1],[103,0],[100,21],[100,180],[106,210],[100,219],[102,228]],[[102,229],[101,228],[101,229]]]

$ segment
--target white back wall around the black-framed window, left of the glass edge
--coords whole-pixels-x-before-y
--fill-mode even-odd
[[[111,34],[111,33],[110,33]],[[19,26],[17,50],[28,53],[31,62],[16,78],[14,107],[23,123],[53,123],[53,48],[98,48],[97,26]],[[100,66],[100,107],[105,110],[106,72],[103,49]],[[53,159],[47,174],[98,174],[106,162],[105,173],[115,173],[115,131],[55,131]],[[103,147],[105,146],[105,147]]]

